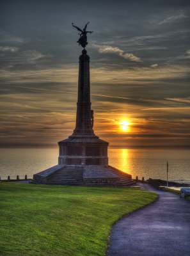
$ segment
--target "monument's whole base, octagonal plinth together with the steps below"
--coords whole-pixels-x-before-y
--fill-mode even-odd
[[[131,175],[108,165],[109,143],[94,134],[59,141],[58,165],[33,175],[31,183],[72,186],[130,186]]]

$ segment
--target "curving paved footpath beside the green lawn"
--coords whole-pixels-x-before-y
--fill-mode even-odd
[[[107,256],[190,256],[190,201],[137,185],[159,198],[113,226]]]

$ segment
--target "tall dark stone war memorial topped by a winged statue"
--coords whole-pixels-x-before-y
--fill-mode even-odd
[[[89,23],[89,22],[88,22]],[[74,132],[58,142],[58,164],[33,175],[32,183],[79,186],[129,186],[134,184],[131,175],[109,166],[107,147],[93,131],[93,110],[90,102],[90,57],[85,49],[87,25],[79,30],[77,41],[83,47],[79,56],[77,115]]]

